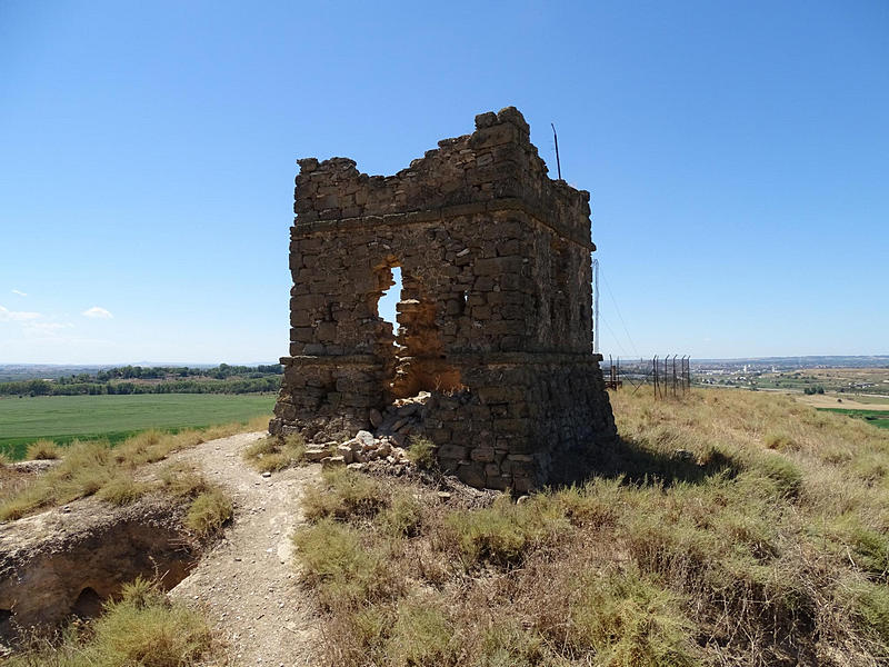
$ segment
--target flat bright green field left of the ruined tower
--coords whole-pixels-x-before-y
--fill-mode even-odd
[[[43,396],[0,399],[0,451],[21,458],[29,442],[107,438],[176,430],[271,415],[272,394],[143,394],[133,396]]]

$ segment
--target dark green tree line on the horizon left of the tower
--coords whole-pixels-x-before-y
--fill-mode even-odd
[[[127,394],[256,394],[277,391],[283,368],[229,366],[216,368],[123,366],[58,380],[0,382],[0,396],[98,396]],[[127,382],[121,380],[159,380]]]

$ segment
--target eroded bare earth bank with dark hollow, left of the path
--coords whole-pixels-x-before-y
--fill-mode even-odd
[[[154,496],[128,507],[83,499],[0,525],[0,641],[72,614],[94,616],[138,576],[172,587],[198,547],[182,508]]]

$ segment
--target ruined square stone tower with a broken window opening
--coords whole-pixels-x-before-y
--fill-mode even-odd
[[[272,432],[348,438],[428,391],[413,432],[440,466],[516,490],[567,479],[613,441],[591,352],[589,192],[547,176],[518,110],[476,117],[394,176],[299,165]],[[377,310],[394,267],[397,337]]]

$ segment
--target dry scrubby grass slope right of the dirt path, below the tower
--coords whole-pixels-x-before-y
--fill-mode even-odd
[[[438,502],[350,471],[298,558],[343,666],[877,665],[889,434],[775,395],[612,395],[588,484]]]

